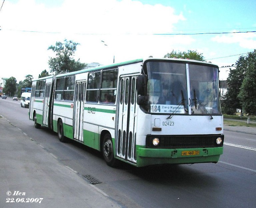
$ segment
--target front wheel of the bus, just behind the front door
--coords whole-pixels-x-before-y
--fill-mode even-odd
[[[111,167],[117,166],[117,159],[114,157],[113,142],[110,134],[105,134],[103,138],[102,154],[107,165]]]

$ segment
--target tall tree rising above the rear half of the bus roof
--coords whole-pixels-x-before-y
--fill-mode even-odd
[[[54,73],[66,73],[83,69],[86,64],[81,63],[78,59],[74,60],[73,56],[76,51],[76,47],[79,43],[73,41],[64,40],[62,42],[56,42],[56,45],[51,45],[48,50],[53,50],[56,53],[55,58],[50,58],[48,61],[50,72]]]

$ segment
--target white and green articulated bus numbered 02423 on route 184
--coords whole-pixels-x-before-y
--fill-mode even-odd
[[[137,59],[35,79],[29,118],[109,166],[217,163],[223,153],[218,66]]]

